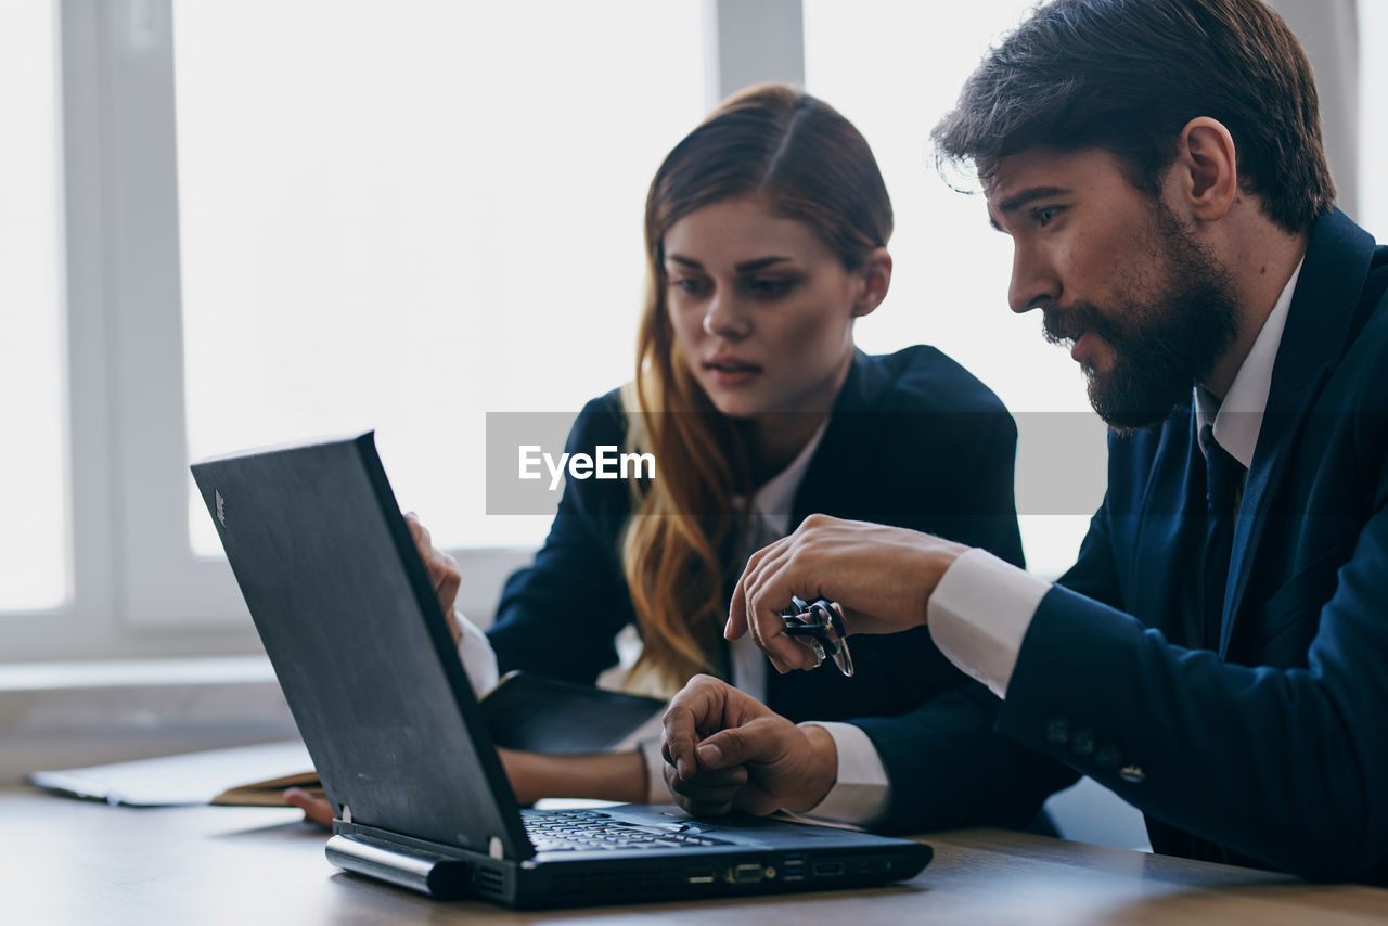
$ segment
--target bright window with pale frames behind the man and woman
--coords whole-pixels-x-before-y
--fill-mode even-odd
[[[25,615],[0,658],[257,651],[189,457],[376,428],[446,546],[533,546],[545,516],[482,514],[483,411],[573,414],[630,376],[647,183],[750,75],[804,78],[872,142],[897,276],[859,340],[938,344],[1013,408],[1029,559],[1063,568],[1102,426],[927,140],[1029,6],[0,3],[0,612]],[[1351,32],[1351,0],[1278,6],[1334,19],[1328,54]],[[1355,212],[1385,232],[1388,4],[1357,15]],[[471,614],[523,557],[466,551]]]

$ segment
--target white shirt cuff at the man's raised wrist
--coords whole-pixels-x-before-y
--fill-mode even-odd
[[[930,636],[965,675],[1006,697],[1022,640],[1049,590],[1049,582],[970,550],[945,569],[930,596]]]

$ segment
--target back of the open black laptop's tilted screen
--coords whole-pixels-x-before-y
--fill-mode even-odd
[[[530,857],[373,435],[192,469],[337,815]]]

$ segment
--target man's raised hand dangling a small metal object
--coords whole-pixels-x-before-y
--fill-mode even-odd
[[[897,633],[926,622],[940,578],[967,547],[927,533],[811,515],[758,550],[733,591],[725,636],[751,632],[779,672],[813,669],[809,644],[784,633],[791,596],[843,608],[848,633]]]

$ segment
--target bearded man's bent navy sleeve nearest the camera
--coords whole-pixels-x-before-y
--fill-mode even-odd
[[[1319,608],[1306,666],[1289,669],[1173,646],[1080,594],[1084,580],[1058,586],[998,729],[1166,823],[1306,877],[1353,879],[1388,854],[1385,575],[1380,504]]]

